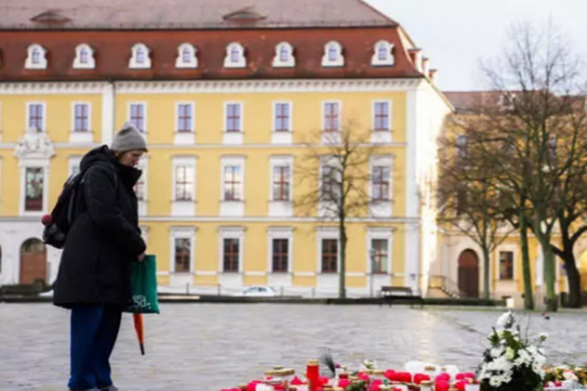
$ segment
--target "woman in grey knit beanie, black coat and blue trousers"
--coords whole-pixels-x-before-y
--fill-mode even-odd
[[[70,390],[117,390],[110,353],[130,300],[130,262],[143,260],[146,250],[133,190],[146,151],[143,136],[127,123],[111,148],[92,149],[80,164],[75,220],[53,296],[55,305],[71,310]]]

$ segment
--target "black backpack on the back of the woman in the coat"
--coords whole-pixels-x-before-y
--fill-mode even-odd
[[[104,163],[96,163],[104,164]],[[114,168],[110,164],[106,164],[114,171]],[[78,172],[75,175],[71,175],[59,194],[57,203],[53,207],[50,215],[43,216],[42,222],[45,225],[43,229],[43,242],[53,246],[56,249],[63,249],[65,246],[65,239],[68,235],[70,227],[73,225],[75,219],[74,213],[76,210],[77,194],[79,193],[80,186],[83,185],[84,175],[87,169],[92,165],[87,166],[83,171]],[[114,172],[114,184],[117,186],[117,175]]]

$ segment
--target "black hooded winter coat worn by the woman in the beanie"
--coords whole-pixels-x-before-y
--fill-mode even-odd
[[[86,168],[53,303],[66,308],[78,304],[125,306],[130,300],[130,263],[146,249],[133,190],[141,171],[121,165],[106,145],[83,157],[80,170]]]

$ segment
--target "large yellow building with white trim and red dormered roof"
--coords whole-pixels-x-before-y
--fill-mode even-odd
[[[350,3],[373,12],[361,2]],[[378,29],[372,29],[363,22],[367,36],[361,40],[368,43],[361,45],[363,54],[356,54],[361,34],[356,29],[316,28],[317,42],[266,43],[260,59],[253,53],[257,43],[247,42],[250,28],[240,40],[231,30],[225,42],[211,33],[205,39],[214,40],[215,51],[200,38],[194,45],[178,45],[167,58],[145,33],[140,43],[129,38],[124,50],[110,53],[124,57],[120,72],[129,72],[117,78],[100,70],[106,56],[98,53],[109,48],[91,42],[90,32],[69,43],[76,59],[63,64],[56,62],[63,47],[52,49],[48,38],[37,44],[35,35],[22,38],[21,49],[28,51],[23,50],[26,58],[19,66],[27,74],[10,74],[8,67],[10,80],[0,77],[0,284],[52,283],[60,254],[38,243],[39,219],[50,212],[80,158],[110,144],[116,130],[131,121],[149,145],[136,192],[161,290],[231,294],[262,284],[284,294],[336,294],[336,222],[318,212],[308,216],[296,206],[312,191],[299,184],[303,174],[297,168],[311,148],[308,143],[324,146],[326,134],[340,133],[353,120],[369,135],[365,148],[376,144],[377,154],[364,167],[370,176],[365,183],[369,210],[348,222],[348,293],[372,294],[382,285],[426,291],[438,237],[429,179],[436,172],[436,137],[451,106],[434,87],[420,49],[399,25],[369,14],[375,16],[387,26],[376,23]],[[279,40],[302,34],[277,33]],[[112,46],[124,32],[117,34]],[[0,37],[0,48],[2,42]],[[39,80],[35,67],[26,68],[35,63],[35,53],[37,60],[49,59],[41,60],[39,72],[75,68],[76,61],[83,63],[78,57],[85,46],[75,45],[79,42],[89,42],[97,80],[68,80],[68,70],[63,70],[66,76]],[[10,50],[16,53],[14,46]],[[190,52],[190,47],[199,49]],[[305,54],[309,47],[313,55]],[[4,49],[5,63],[16,61],[10,50]],[[180,73],[207,66],[213,60],[206,56],[212,55],[225,58],[211,72],[262,66],[267,72],[293,67],[295,73],[227,73],[230,77],[212,80],[185,79]],[[294,60],[299,65],[292,65]],[[303,77],[311,73],[301,72],[301,66],[314,67],[315,75]],[[143,77],[140,69],[162,73]],[[22,80],[29,73],[32,80]],[[41,256],[29,256],[43,251],[45,266]]]

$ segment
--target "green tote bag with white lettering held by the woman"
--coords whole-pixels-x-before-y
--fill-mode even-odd
[[[158,314],[157,262],[154,255],[147,255],[142,262],[130,263],[132,301],[126,312]]]

